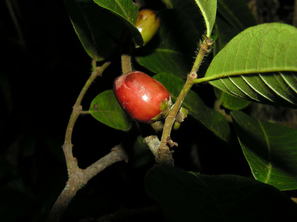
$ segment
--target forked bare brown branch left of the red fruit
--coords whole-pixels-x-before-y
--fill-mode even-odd
[[[97,67],[96,59],[92,61],[93,72],[89,79],[86,81],[86,84],[83,86],[83,89],[81,90],[74,104],[66,129],[65,142],[63,145],[63,151],[66,158],[68,170],[68,181],[64,190],[61,192],[60,196],[53,205],[53,208],[51,209],[46,221],[60,221],[64,211],[66,210],[67,206],[69,205],[75,194],[80,188],[85,186],[92,177],[97,175],[99,172],[101,172],[111,164],[121,160],[127,161],[128,159],[124,149],[120,145],[118,145],[114,147],[108,155],[102,157],[100,160],[83,170],[78,167],[77,159],[73,157],[72,154],[71,136],[75,121],[81,113],[86,113],[85,111],[82,111],[81,100],[83,99],[83,96],[85,95],[87,89],[94,81],[94,79],[97,76],[102,75],[102,72],[105,70],[106,67],[108,67],[109,64],[110,62],[105,62],[101,67]]]

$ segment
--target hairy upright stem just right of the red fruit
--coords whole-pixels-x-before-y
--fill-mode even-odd
[[[207,36],[203,36],[204,41],[203,44],[200,44],[200,49],[197,54],[197,57],[195,59],[195,62],[193,64],[192,70],[190,74],[188,75],[187,81],[184,84],[184,87],[182,88],[180,94],[178,95],[175,104],[173,105],[172,109],[169,112],[169,115],[165,119],[165,124],[163,128],[162,138],[159,146],[159,156],[156,158],[158,160],[157,163],[160,164],[166,164],[166,165],[174,165],[174,161],[172,158],[172,152],[170,151],[169,147],[167,146],[168,142],[171,142],[174,144],[173,141],[170,141],[170,132],[173,126],[173,123],[176,119],[176,115],[178,113],[178,110],[181,107],[182,102],[184,101],[184,98],[186,97],[187,93],[191,89],[191,87],[194,84],[194,81],[197,79],[197,71],[201,65],[201,62],[203,60],[203,57],[206,53],[208,53],[210,50],[210,46],[212,45],[212,42]]]

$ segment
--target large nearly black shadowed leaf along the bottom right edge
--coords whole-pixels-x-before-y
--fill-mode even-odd
[[[296,203],[273,186],[236,175],[208,176],[155,165],[146,175],[145,188],[167,221],[289,221],[297,210]]]

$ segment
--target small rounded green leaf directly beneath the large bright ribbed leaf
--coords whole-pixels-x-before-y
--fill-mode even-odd
[[[228,93],[214,87],[214,94],[218,100],[221,100],[221,105],[229,110],[241,110],[247,107],[251,102],[246,99],[231,96]]]

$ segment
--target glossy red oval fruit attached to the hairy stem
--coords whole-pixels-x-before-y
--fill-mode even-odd
[[[158,115],[167,109],[170,99],[162,83],[140,71],[116,78],[113,92],[125,112],[143,123],[155,122],[161,116]]]

